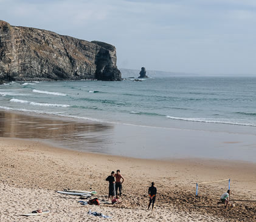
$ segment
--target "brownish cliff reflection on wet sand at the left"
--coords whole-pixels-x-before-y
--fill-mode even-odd
[[[0,111],[1,137],[40,139],[75,150],[108,153],[106,145],[113,128],[110,124]]]

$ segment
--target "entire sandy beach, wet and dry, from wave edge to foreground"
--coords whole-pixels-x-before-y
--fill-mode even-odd
[[[251,133],[216,132],[213,125],[208,130],[159,129],[6,111],[0,117],[1,222],[256,221]],[[125,178],[122,203],[106,204],[105,179],[117,169]],[[227,179],[235,207],[224,209],[216,203],[229,188]],[[196,196],[196,183],[220,180],[225,181],[199,184]],[[147,210],[152,181],[157,187],[153,211]],[[57,193],[69,189],[97,191],[91,198],[99,198],[100,205],[81,205],[78,201],[90,198]],[[36,209],[50,213],[22,216]],[[111,218],[89,215],[89,210]]]

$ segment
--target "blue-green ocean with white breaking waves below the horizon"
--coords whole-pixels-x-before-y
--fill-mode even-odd
[[[87,121],[110,128],[130,126],[131,130],[137,129],[140,133],[148,130],[153,134],[159,130],[190,130],[226,135],[256,135],[254,77],[184,76],[133,80],[10,82],[0,86],[0,109],[3,112],[72,119],[72,123]],[[1,122],[5,121],[2,119]],[[162,132],[159,133],[163,135]],[[80,138],[88,138],[88,133],[86,135],[80,134]],[[168,141],[168,133],[166,137]],[[69,141],[66,146],[74,147],[74,141]],[[75,142],[75,147],[83,150],[84,146]],[[133,152],[129,152],[129,155],[120,154],[116,150],[109,151],[109,147],[107,150],[95,147],[85,151],[97,150],[95,152],[133,157],[144,155]],[[173,154],[167,156],[173,157]],[[189,156],[193,155],[190,153]],[[157,156],[163,157],[166,157],[166,153]],[[216,155],[213,157],[218,158]],[[145,155],[145,158],[152,158],[152,155]]]

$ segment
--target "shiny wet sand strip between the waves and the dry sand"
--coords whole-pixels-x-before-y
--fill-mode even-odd
[[[151,160],[201,158],[256,163],[255,135],[251,134],[95,123],[35,113],[0,114],[2,137],[40,139],[66,149]]]

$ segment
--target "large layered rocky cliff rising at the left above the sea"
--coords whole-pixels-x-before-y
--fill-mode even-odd
[[[121,78],[116,48],[0,20],[0,82]]]

